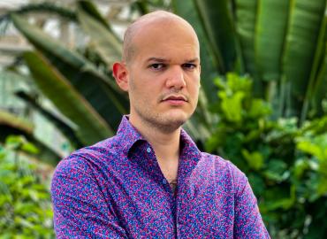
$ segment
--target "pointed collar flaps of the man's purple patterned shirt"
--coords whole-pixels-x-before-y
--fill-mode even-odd
[[[121,149],[127,155],[134,143],[138,141],[146,141],[139,131],[129,122],[128,116],[123,116],[117,132],[118,137],[121,137]],[[201,151],[197,148],[192,138],[182,128],[180,133],[181,153],[180,158],[192,158],[194,161],[199,161]],[[124,142],[124,143],[123,143]]]

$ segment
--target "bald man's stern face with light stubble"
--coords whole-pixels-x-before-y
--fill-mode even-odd
[[[200,88],[199,43],[184,22],[150,24],[135,35],[127,66],[130,120],[165,131],[194,113]]]

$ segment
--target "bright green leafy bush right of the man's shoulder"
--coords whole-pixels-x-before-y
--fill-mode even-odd
[[[303,127],[296,118],[270,120],[270,104],[253,96],[247,76],[227,73],[215,82],[219,101],[211,110],[219,120],[207,150],[247,174],[272,238],[323,238],[327,116]]]

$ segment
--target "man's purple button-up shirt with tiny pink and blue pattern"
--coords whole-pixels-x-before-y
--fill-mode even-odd
[[[270,238],[244,173],[182,130],[176,197],[151,145],[123,118],[118,134],[54,173],[57,238]]]

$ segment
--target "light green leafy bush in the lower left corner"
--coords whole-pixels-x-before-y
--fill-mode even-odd
[[[0,145],[0,238],[54,238],[49,189],[24,152],[38,149],[22,136]]]

